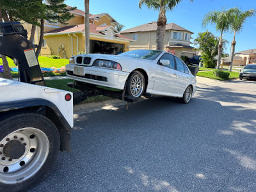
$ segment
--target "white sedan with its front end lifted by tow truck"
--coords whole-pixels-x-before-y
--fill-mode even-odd
[[[66,65],[70,79],[126,90],[132,97],[143,93],[180,97],[188,103],[196,92],[196,78],[177,56],[165,51],[135,50],[117,56],[80,54]]]

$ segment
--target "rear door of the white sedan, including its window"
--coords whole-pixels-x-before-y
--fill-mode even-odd
[[[177,76],[177,81],[176,81],[173,92],[177,94],[183,94],[186,88],[188,87],[189,72],[188,72],[188,68],[186,67],[186,64],[184,64],[183,61],[180,60],[180,58],[177,58],[175,56],[175,61],[176,61],[175,74]]]

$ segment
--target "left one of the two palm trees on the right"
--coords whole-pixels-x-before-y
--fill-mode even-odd
[[[204,18],[202,20],[202,25],[204,27],[206,27],[207,24],[214,24],[216,26],[216,30],[221,31],[220,42],[218,44],[217,68],[220,67],[221,51],[223,46],[223,42],[222,42],[223,32],[228,31],[228,28],[230,26],[229,16],[230,16],[229,12],[222,8],[221,11],[213,11],[213,12],[207,13],[206,15],[204,15]]]

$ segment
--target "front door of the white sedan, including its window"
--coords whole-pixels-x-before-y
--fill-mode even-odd
[[[161,65],[160,60],[169,60],[170,65]],[[175,60],[172,54],[164,53],[157,61],[157,74],[153,90],[158,92],[173,93],[176,83]]]

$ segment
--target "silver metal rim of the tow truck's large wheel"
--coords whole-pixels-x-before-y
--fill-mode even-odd
[[[49,154],[49,140],[33,127],[13,131],[0,141],[0,181],[17,184],[35,175]]]

